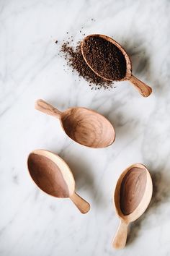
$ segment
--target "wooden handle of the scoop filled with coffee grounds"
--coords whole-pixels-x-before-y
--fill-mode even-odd
[[[152,93],[152,88],[150,86],[146,85],[144,82],[138,80],[138,78],[134,77],[133,74],[129,78],[129,81],[138,90],[138,92],[141,95],[143,95],[143,97],[148,97]]]

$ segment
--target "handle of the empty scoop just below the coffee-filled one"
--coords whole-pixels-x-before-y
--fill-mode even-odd
[[[61,111],[59,111],[57,108],[54,108],[53,106],[51,106],[50,104],[48,104],[43,100],[37,100],[35,102],[35,109],[45,114],[48,114],[50,116],[55,116],[57,118],[60,118],[61,116]]]

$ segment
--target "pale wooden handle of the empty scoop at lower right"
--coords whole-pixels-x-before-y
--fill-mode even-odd
[[[124,221],[120,222],[120,226],[117,229],[117,233],[113,239],[112,245],[115,249],[122,249],[125,247],[128,236],[128,223]]]

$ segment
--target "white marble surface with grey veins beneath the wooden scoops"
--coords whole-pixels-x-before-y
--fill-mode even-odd
[[[169,1],[0,1],[0,255],[170,255],[170,3]],[[91,21],[91,18],[94,21]],[[110,35],[126,48],[133,73],[153,87],[142,98],[128,82],[90,90],[64,72],[59,43],[84,33]],[[72,142],[37,98],[64,110],[85,106],[108,117],[116,130],[109,148]],[[82,215],[70,200],[45,195],[27,172],[27,155],[52,150],[71,166],[76,191],[91,203]],[[119,220],[112,192],[130,164],[146,164],[153,200],[130,228],[125,249],[112,249]]]

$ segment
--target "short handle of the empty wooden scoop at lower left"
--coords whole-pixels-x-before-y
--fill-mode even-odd
[[[88,213],[90,210],[89,202],[86,202],[83,198],[77,195],[75,192],[71,195],[71,201],[76,205],[76,207],[81,211],[81,213]]]

